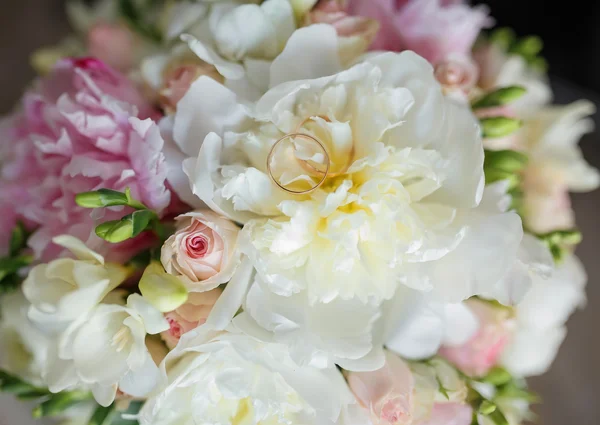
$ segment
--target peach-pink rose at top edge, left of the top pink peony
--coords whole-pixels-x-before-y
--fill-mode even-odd
[[[340,57],[350,62],[369,48],[379,30],[379,22],[349,15],[344,3],[344,0],[321,0],[306,14],[304,23],[333,26],[339,36]]]

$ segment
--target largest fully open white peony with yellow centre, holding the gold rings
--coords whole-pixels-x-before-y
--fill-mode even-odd
[[[330,49],[319,55],[335,56],[335,31],[314,25],[280,57],[309,40]],[[383,357],[372,325],[398,285],[457,302],[494,289],[515,261],[521,221],[492,201],[478,208],[477,121],[444,97],[424,59],[387,53],[346,71],[309,59],[280,64],[288,78],[254,105],[200,78],[179,104],[174,137],[193,152],[207,135],[184,163],[192,191],[245,224],[240,245],[257,278],[244,317],[277,340],[303,341],[292,353],[303,363],[376,368]],[[336,174],[308,195],[281,190],[266,168],[274,143],[293,132],[316,137]],[[323,157],[317,146],[302,149],[302,158]],[[306,171],[292,175],[299,164],[275,155],[271,165],[288,181],[314,185]]]

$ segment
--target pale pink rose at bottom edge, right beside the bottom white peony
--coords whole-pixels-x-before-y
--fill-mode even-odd
[[[385,365],[373,372],[350,372],[350,390],[369,410],[374,425],[410,424],[413,420],[414,377],[407,364],[386,352]]]

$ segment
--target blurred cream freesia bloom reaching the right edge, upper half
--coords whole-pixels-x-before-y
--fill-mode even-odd
[[[547,106],[526,121],[520,137],[529,163],[524,171],[524,221],[537,233],[570,229],[575,215],[568,192],[598,188],[600,173],[583,157],[578,143],[593,131],[593,103]]]

